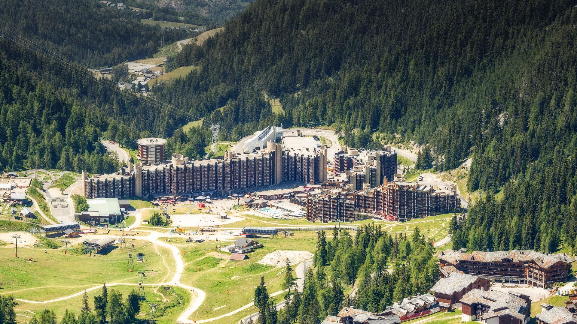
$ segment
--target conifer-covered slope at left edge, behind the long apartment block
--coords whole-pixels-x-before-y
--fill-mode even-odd
[[[0,169],[114,172],[100,138],[168,137],[170,112],[0,39]],[[134,144],[132,144],[134,145]]]

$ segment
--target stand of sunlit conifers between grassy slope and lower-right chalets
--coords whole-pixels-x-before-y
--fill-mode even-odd
[[[305,272],[301,292],[287,260],[281,310],[276,309],[261,278],[254,290],[257,323],[320,324],[342,307],[381,312],[406,296],[427,292],[439,273],[433,246],[418,227],[410,236],[391,236],[374,224],[362,225],[354,238],[336,227],[331,239],[320,231],[313,263]]]

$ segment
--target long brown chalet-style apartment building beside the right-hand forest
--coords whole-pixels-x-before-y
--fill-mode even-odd
[[[566,281],[574,259],[565,253],[545,254],[531,250],[483,252],[445,250],[437,254],[439,266],[454,266],[463,273],[501,282],[517,282],[548,288]]]

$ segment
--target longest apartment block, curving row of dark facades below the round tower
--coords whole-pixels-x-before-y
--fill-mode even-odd
[[[231,191],[281,182],[314,184],[327,179],[327,148],[286,149],[275,142],[218,159],[190,160],[173,154],[167,163],[128,163],[115,174],[83,173],[87,198],[148,197],[201,191]]]

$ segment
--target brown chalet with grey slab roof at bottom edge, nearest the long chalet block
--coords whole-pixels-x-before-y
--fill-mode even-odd
[[[473,289],[459,303],[462,304],[462,322],[524,324],[531,312],[529,296],[517,292]]]

